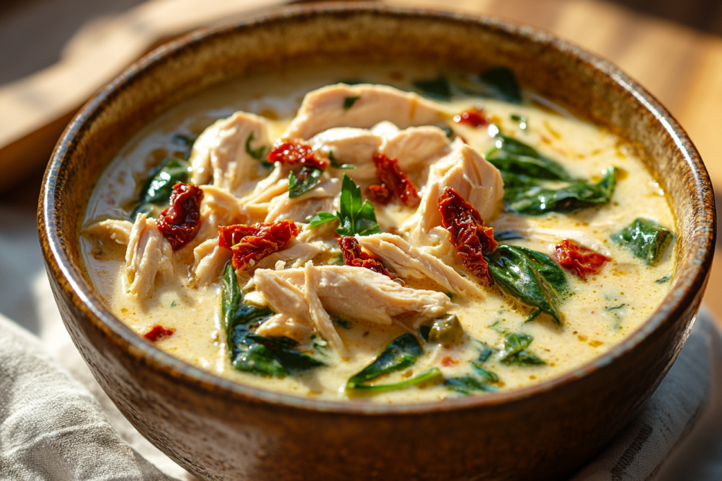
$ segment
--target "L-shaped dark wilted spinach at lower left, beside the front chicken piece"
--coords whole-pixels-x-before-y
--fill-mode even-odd
[[[297,344],[288,337],[256,335],[252,329],[271,317],[271,309],[259,309],[243,303],[243,292],[230,263],[223,273],[221,291],[222,318],[233,367],[253,374],[284,377],[323,362],[293,349]]]

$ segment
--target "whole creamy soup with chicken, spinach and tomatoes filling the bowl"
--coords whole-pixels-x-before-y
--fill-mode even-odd
[[[503,68],[214,87],[124,146],[80,242],[97,293],[158,348],[354,402],[559,376],[637,329],[674,275],[674,216],[641,160]]]

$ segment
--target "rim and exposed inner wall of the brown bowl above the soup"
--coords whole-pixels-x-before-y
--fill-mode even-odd
[[[325,410],[402,412],[404,405],[350,407],[298,400],[219,379],[177,361],[131,332],[93,294],[79,252],[79,227],[92,188],[131,136],[150,120],[204,89],[249,73],[280,71],[339,58],[360,64],[404,61],[479,72],[509,66],[523,87],[625,138],[671,195],[677,217],[677,271],[671,291],[638,331],[581,369],[538,386],[445,409],[506,402],[552,389],[622,356],[663,322],[674,322],[704,288],[714,245],[710,182],[682,128],[664,107],[606,61],[529,27],[460,14],[383,6],[297,6],[231,27],[201,30],[145,57],[93,98],[61,138],[44,181],[41,237],[81,309],[110,336],[174,376],[208,389]],[[414,405],[414,410],[435,409]]]

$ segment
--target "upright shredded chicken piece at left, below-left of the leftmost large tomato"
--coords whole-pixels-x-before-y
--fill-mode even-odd
[[[126,249],[126,275],[123,278],[126,292],[142,300],[154,288],[157,276],[172,279],[172,255],[173,248],[158,230],[155,219],[139,213]]]

